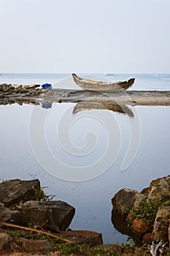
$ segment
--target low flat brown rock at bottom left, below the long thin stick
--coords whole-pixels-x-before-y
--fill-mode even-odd
[[[53,246],[47,239],[43,240],[31,240],[26,238],[20,238],[19,243],[26,250],[26,252],[42,253],[43,255],[52,252]]]

